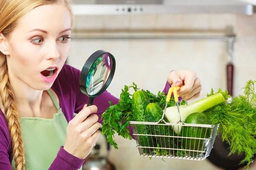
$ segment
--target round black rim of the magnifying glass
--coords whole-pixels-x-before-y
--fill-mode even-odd
[[[98,59],[100,56],[102,56],[103,54],[106,54],[106,53],[110,54],[110,56],[112,58],[112,68],[111,68],[111,71],[110,71],[110,75],[108,76],[108,79],[107,79],[106,83],[103,85],[103,87],[101,88],[101,90],[96,94],[90,95],[90,94],[87,93],[87,90],[86,90],[86,79],[87,79],[88,72],[89,72],[91,66],[93,65],[93,63],[96,61],[96,59]],[[98,51],[94,52],[86,60],[86,62],[84,63],[84,66],[81,70],[80,78],[79,78],[80,90],[82,91],[82,93],[86,94],[88,97],[91,97],[91,98],[95,98],[95,97],[99,96],[110,85],[110,83],[113,79],[114,73],[115,73],[115,69],[116,69],[116,60],[115,60],[115,58],[113,57],[113,55],[111,53],[109,53],[107,51],[104,51],[104,50],[98,50]],[[82,77],[85,77],[85,79],[82,79]]]

